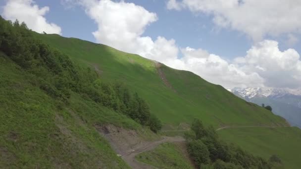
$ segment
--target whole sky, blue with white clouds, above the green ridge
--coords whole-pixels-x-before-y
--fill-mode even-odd
[[[295,11],[301,4],[298,0],[290,3],[293,5],[267,0],[263,7],[260,0],[2,0],[0,13],[5,19],[25,21],[37,32],[53,31],[64,37],[108,44],[192,71],[226,88],[296,88],[301,82],[301,25],[296,23],[301,13],[281,11]],[[42,10],[45,6],[48,9]],[[114,10],[116,7],[118,10]],[[32,8],[38,12],[27,16]],[[122,16],[120,11],[127,14]],[[112,22],[124,22],[121,30],[103,15],[112,17]],[[140,24],[142,21],[145,23]],[[127,29],[124,35],[122,26]],[[105,32],[104,27],[114,32]],[[133,35],[126,37],[127,33]],[[105,37],[109,34],[125,37],[120,41],[126,43]],[[127,43],[133,45],[124,46]],[[143,43],[141,49],[135,49],[136,43]],[[289,48],[293,51],[287,51]],[[264,63],[267,60],[271,63]],[[294,69],[288,69],[291,65]],[[279,78],[273,72],[280,72]],[[288,78],[287,83],[283,78]]]

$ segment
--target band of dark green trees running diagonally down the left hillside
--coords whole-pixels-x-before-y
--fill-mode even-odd
[[[69,103],[73,91],[126,114],[154,132],[162,127],[137,93],[132,95],[122,84],[101,82],[95,71],[82,68],[67,55],[36,40],[25,23],[19,24],[18,20],[12,23],[0,17],[0,51],[35,76],[35,85],[55,98],[59,107]]]

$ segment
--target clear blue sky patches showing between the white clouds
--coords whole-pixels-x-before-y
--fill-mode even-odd
[[[234,58],[246,54],[251,46],[251,40],[237,31],[220,29],[214,31],[212,16],[195,15],[188,10],[171,11],[166,8],[164,0],[125,0],[143,6],[150,12],[155,12],[158,20],[149,25],[143,35],[155,39],[164,36],[175,39],[177,45],[203,48],[211,53]],[[62,5],[60,0],[35,0],[39,6],[49,6],[50,11],[45,15],[49,22],[62,28],[62,36],[96,42],[92,32],[97,25],[90,19],[81,6]],[[5,1],[0,2],[5,5]]]

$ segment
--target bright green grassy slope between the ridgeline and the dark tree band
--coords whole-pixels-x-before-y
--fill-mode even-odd
[[[215,127],[221,124],[286,125],[282,118],[246,103],[222,86],[210,84],[191,72],[161,67],[175,92],[164,85],[151,60],[74,38],[38,34],[37,37],[75,61],[97,67],[102,79],[129,85],[149,102],[151,112],[165,124],[190,123],[197,117]]]

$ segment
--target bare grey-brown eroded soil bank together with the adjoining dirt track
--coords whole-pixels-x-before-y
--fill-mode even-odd
[[[138,162],[135,156],[139,153],[150,151],[164,142],[183,142],[182,137],[163,137],[158,141],[146,141],[134,130],[126,130],[112,125],[98,126],[97,130],[111,144],[118,156],[120,156],[132,169],[153,169],[152,166]]]

